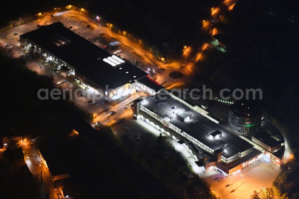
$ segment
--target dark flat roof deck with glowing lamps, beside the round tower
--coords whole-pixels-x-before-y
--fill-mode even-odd
[[[162,118],[165,117],[165,114],[172,116],[173,119],[171,120],[171,123],[173,125],[211,149],[216,150],[222,147],[225,149],[225,153],[222,154],[225,158],[232,157],[239,152],[246,151],[253,147],[245,140],[223,128],[221,125],[212,122],[193,109],[190,109],[178,100],[174,100],[169,95],[163,95],[163,97],[167,97],[167,99],[159,100],[146,98],[141,105],[149,110],[156,110],[155,114]],[[159,101],[165,101],[165,103],[158,103]],[[192,119],[187,122],[179,120],[176,114],[173,114],[176,109],[173,110],[171,107],[176,107],[176,109],[183,108],[192,114]],[[210,133],[217,130],[222,132],[222,137],[213,140],[213,138],[210,137]]]

